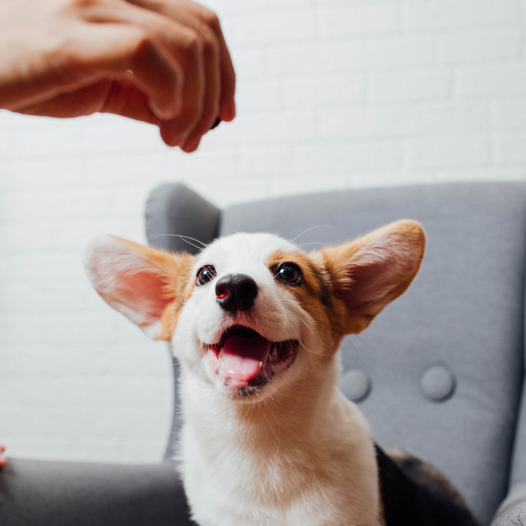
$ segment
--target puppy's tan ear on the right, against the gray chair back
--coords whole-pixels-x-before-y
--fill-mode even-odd
[[[422,227],[401,220],[348,244],[320,250],[333,295],[343,302],[341,328],[361,332],[398,298],[416,276],[425,244]]]

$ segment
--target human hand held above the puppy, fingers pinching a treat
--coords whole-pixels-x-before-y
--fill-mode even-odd
[[[0,108],[114,113],[194,151],[234,93],[219,20],[189,0],[0,0]]]

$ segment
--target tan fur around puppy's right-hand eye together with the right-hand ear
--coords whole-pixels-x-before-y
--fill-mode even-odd
[[[298,265],[301,286],[286,288],[315,320],[322,336],[322,359],[337,352],[343,336],[359,333],[410,285],[420,268],[425,246],[422,227],[415,221],[397,221],[344,245],[307,255],[277,251],[268,267],[283,262]]]

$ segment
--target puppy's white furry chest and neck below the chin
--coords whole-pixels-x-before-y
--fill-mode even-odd
[[[181,471],[201,526],[378,525],[378,475],[367,423],[337,390],[332,410],[309,429],[297,429],[294,418],[290,426],[280,419],[278,428],[267,406],[241,408],[260,413],[250,415],[248,430],[244,419],[241,430],[238,416],[226,415],[230,404],[221,407],[224,400],[211,397],[204,410],[195,383],[185,386],[183,379],[181,389]],[[247,432],[254,440],[239,437]]]

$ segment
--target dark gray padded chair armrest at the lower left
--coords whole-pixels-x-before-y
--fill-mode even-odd
[[[9,459],[2,526],[189,526],[173,464],[127,466]]]

